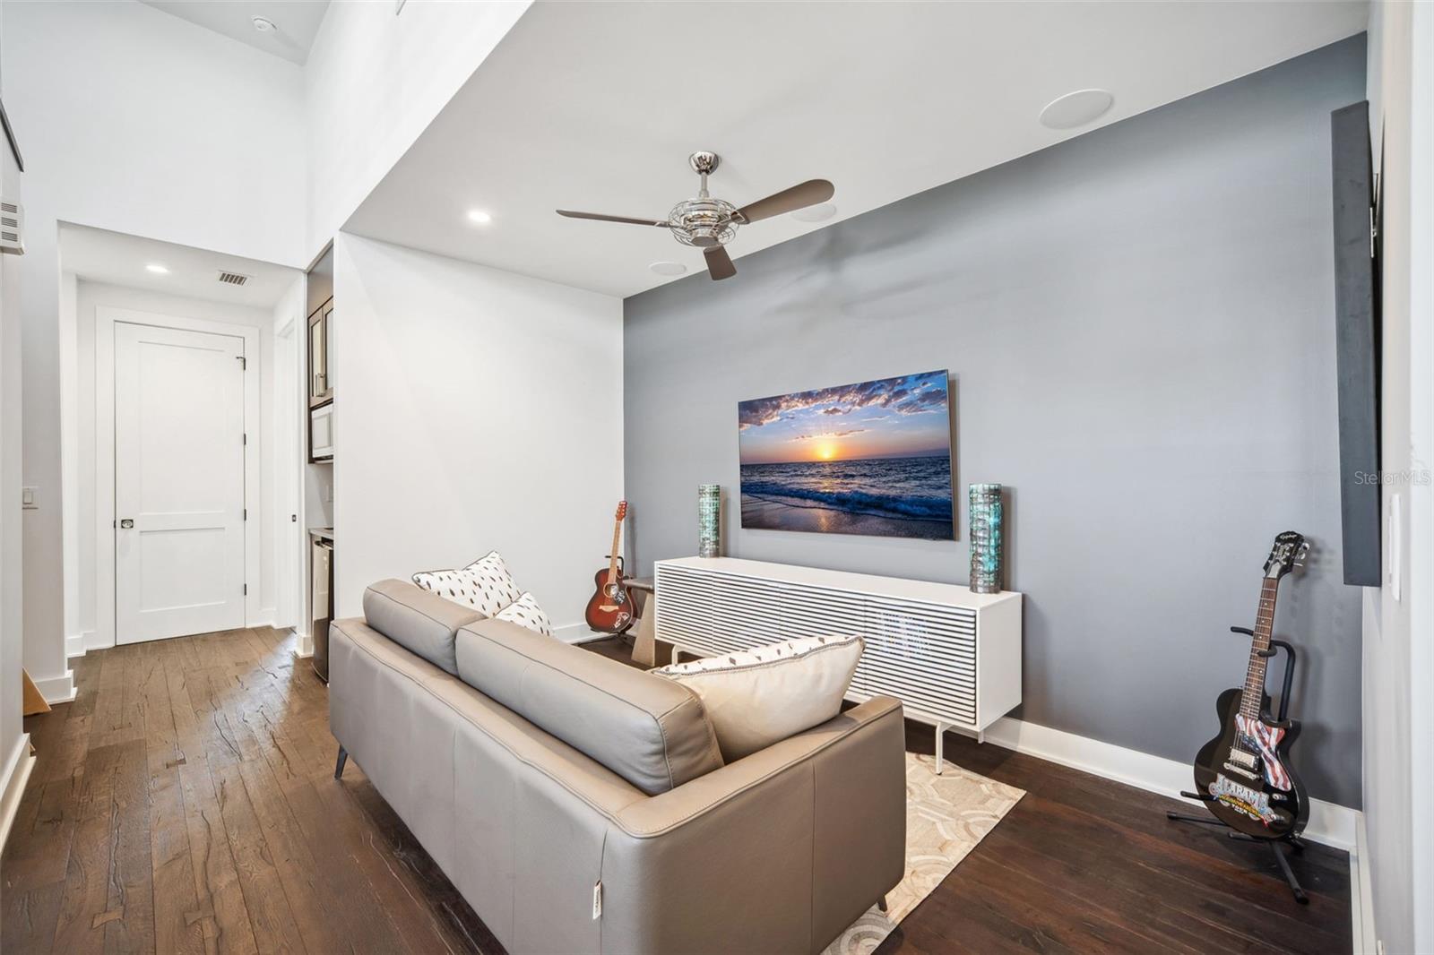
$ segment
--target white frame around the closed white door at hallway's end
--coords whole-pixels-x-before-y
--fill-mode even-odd
[[[166,315],[112,305],[95,307],[95,642],[116,645],[118,605],[115,599],[115,326],[152,326],[178,331],[204,331],[244,340],[244,625],[260,617],[261,553],[260,528],[265,515],[260,509],[260,330],[228,321]]]

